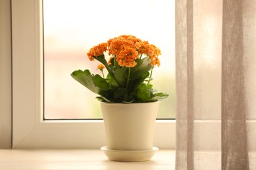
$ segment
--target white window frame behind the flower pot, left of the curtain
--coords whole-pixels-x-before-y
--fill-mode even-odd
[[[12,148],[100,148],[103,120],[43,120],[41,0],[12,0]],[[175,148],[175,120],[156,120],[154,146]]]

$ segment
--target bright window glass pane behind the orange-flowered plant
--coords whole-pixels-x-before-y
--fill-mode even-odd
[[[70,74],[100,74],[87,52],[124,34],[160,48],[152,84],[169,97],[160,102],[158,118],[175,118],[175,1],[44,0],[43,22],[45,119],[102,118],[97,95]]]

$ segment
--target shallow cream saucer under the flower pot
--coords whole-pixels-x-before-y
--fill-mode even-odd
[[[149,161],[159,148],[153,147],[150,150],[110,150],[103,146],[100,150],[111,161]]]

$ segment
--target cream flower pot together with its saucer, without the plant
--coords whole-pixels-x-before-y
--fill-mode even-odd
[[[159,101],[129,104],[101,102],[100,105],[106,129],[106,146],[102,150],[108,159],[150,160],[154,151],[158,150],[153,147],[153,138]]]

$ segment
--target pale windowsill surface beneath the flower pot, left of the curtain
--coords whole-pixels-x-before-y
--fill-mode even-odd
[[[101,150],[0,150],[0,169],[175,169],[175,150],[159,150],[151,161],[109,161]]]

